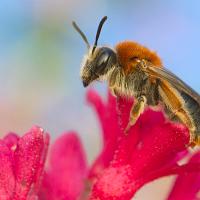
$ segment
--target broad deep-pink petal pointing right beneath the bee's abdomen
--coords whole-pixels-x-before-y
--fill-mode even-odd
[[[132,166],[136,177],[167,165],[189,143],[188,129],[169,123],[157,125],[148,131],[140,148],[132,154]]]

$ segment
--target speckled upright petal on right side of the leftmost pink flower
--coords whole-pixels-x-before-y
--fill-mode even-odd
[[[28,193],[35,190],[38,173],[41,173],[41,160],[44,155],[44,131],[33,127],[18,141],[15,151],[16,188],[14,199],[26,199]]]

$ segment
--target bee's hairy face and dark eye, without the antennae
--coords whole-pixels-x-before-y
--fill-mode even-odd
[[[94,52],[89,51],[81,69],[84,87],[87,87],[94,80],[102,79],[116,63],[117,55],[108,47],[97,47]]]

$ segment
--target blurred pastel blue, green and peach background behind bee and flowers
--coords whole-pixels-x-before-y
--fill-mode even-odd
[[[71,21],[93,43],[98,23],[107,15],[99,44],[138,41],[156,50],[167,68],[200,92],[199,8],[197,0],[1,0],[1,135],[22,134],[34,124],[52,138],[76,130],[91,162],[101,146],[101,130],[79,78],[86,46]],[[93,87],[105,96],[105,84]],[[153,187],[152,199],[163,199],[169,181],[144,190]],[[151,193],[142,190],[136,199],[150,199]]]

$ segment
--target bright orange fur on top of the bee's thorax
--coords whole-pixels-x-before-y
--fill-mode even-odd
[[[136,59],[144,59],[151,62],[156,67],[162,67],[162,61],[155,52],[136,42],[120,42],[115,48],[119,63],[124,68],[125,72],[133,70]]]

